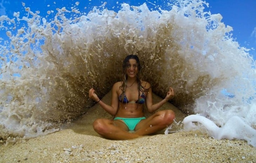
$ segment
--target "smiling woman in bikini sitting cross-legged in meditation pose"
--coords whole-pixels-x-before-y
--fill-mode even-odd
[[[93,88],[89,90],[89,97],[114,116],[113,120],[94,121],[93,128],[101,136],[114,140],[133,139],[155,133],[173,123],[175,114],[172,110],[163,110],[148,118],[144,117],[143,103],[146,103],[147,110],[153,113],[174,97],[174,90],[170,87],[166,97],[153,104],[151,86],[148,82],[140,80],[140,69],[137,55],[128,55],[124,59],[124,78],[123,81],[114,84],[110,106],[99,99]]]

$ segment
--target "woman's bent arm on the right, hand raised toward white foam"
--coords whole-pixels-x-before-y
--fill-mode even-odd
[[[148,112],[153,113],[154,111],[159,109],[163,104],[165,104],[169,99],[171,99],[173,97],[174,97],[174,90],[172,87],[170,87],[169,91],[167,92],[166,97],[162,101],[160,101],[156,104],[153,104],[152,89],[149,88],[147,98],[146,98],[146,106],[147,106]]]

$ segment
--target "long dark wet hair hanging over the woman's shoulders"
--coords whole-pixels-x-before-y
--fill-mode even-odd
[[[127,85],[126,85],[126,80],[127,80],[127,74],[126,74],[126,70],[128,68],[128,66],[130,65],[129,60],[130,59],[135,59],[136,60],[136,64],[137,64],[137,68],[138,68],[138,73],[136,74],[136,78],[137,78],[137,82],[138,82],[138,90],[139,90],[139,94],[138,94],[138,99],[140,98],[140,91],[143,91],[141,86],[141,80],[140,80],[140,70],[141,70],[141,65],[140,65],[140,59],[137,55],[127,55],[126,58],[123,60],[123,80],[122,80],[122,85],[120,86],[120,89],[122,90],[122,101],[124,98],[124,93],[126,91]]]

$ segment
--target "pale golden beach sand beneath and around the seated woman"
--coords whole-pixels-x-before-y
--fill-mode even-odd
[[[102,101],[108,103],[110,93]],[[162,109],[174,110],[177,122],[187,116],[170,103]],[[107,140],[92,128],[100,117],[111,118],[96,104],[59,132],[2,144],[0,162],[256,162],[256,148],[246,141],[215,140],[199,131],[184,132],[182,125],[174,124],[167,135],[163,130],[133,140]]]

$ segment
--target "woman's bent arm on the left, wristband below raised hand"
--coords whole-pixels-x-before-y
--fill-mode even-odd
[[[93,88],[91,88],[89,90],[89,97],[94,99],[95,101],[97,101],[100,106],[106,110],[109,114],[111,115],[115,115],[116,112],[117,112],[117,109],[118,109],[118,105],[119,105],[119,101],[118,101],[118,94],[117,94],[117,91],[118,91],[118,86],[119,84],[118,83],[115,83],[113,88],[112,88],[112,100],[111,100],[111,105],[107,105],[105,104],[103,101],[101,101],[99,99],[99,97],[95,94],[95,90]]]

